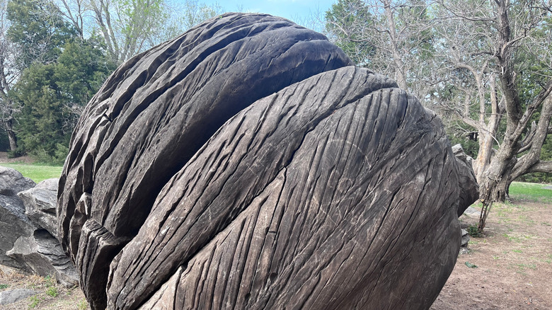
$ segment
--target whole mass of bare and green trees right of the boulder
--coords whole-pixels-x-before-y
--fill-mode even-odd
[[[395,76],[437,110],[476,156],[488,206],[508,199],[513,180],[552,172],[542,151],[552,132],[551,7],[550,0],[340,0],[326,29],[352,57],[362,53],[347,47],[367,46],[357,63]],[[370,22],[351,27],[350,16],[366,9]]]

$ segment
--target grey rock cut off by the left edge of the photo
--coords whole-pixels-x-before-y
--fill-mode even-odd
[[[33,188],[35,183],[21,173],[0,166],[0,265],[27,270],[21,261],[6,256],[20,236],[30,236],[35,225],[25,215],[25,205],[17,193]]]

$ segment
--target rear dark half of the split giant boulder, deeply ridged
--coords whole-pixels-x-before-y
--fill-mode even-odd
[[[122,64],[81,116],[59,182],[59,236],[93,309],[105,307],[109,265],[161,188],[226,120],[286,86],[350,64],[319,33],[236,13]]]

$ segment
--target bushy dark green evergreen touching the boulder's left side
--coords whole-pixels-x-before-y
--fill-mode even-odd
[[[44,161],[63,161],[84,105],[115,69],[93,40],[74,40],[62,50],[56,62],[25,69],[15,89],[23,107],[18,135]]]

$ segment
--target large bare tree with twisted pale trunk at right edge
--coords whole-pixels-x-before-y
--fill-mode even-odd
[[[540,159],[551,131],[551,1],[438,4],[440,71],[458,91],[447,106],[478,132],[473,168],[483,202],[483,230],[490,205],[508,199],[513,180],[552,172],[552,162]],[[539,81],[538,86],[522,96],[529,79]]]

